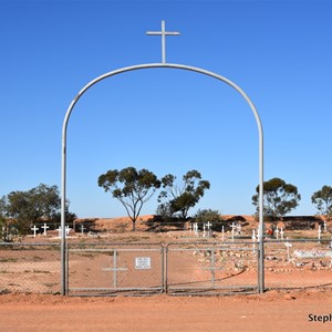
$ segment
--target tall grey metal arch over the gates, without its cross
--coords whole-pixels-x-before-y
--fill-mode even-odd
[[[66,267],[65,267],[65,194],[66,194],[66,129],[68,129],[68,123],[71,116],[71,113],[77,103],[77,101],[81,98],[81,96],[94,84],[98,83],[102,80],[105,80],[107,77],[112,77],[114,75],[118,75],[125,72],[136,71],[136,70],[143,70],[143,69],[156,69],[156,68],[167,68],[167,69],[178,69],[178,70],[186,70],[191,71],[196,73],[200,73],[207,76],[211,76],[214,79],[217,79],[219,81],[222,81],[234,87],[240,95],[246,100],[246,102],[249,104],[258,127],[258,134],[259,134],[259,292],[262,293],[264,290],[264,266],[263,266],[263,131],[262,131],[262,124],[258,114],[258,111],[249,96],[243,92],[242,89],[240,89],[236,83],[232,81],[216,74],[214,72],[196,68],[196,66],[189,66],[185,64],[176,64],[176,63],[147,63],[147,64],[137,64],[132,66],[122,68],[108,73],[105,73],[103,75],[97,76],[96,79],[92,80],[90,83],[87,83],[74,97],[74,100],[71,102],[70,106],[68,107],[68,111],[64,116],[63,125],[62,125],[62,162],[61,162],[61,293],[65,294],[65,284],[66,284]]]

